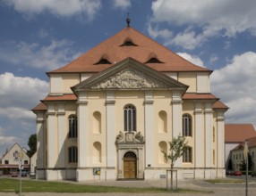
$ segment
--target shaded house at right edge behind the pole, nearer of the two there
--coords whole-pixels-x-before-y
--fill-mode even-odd
[[[240,165],[243,161],[243,147],[244,147],[245,141],[243,143],[240,143],[237,145],[232,151],[231,151],[231,160],[233,169],[239,171]],[[256,170],[256,137],[252,137],[247,139],[247,145],[249,154],[252,158],[252,170]]]

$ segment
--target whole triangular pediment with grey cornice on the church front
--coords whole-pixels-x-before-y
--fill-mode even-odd
[[[183,91],[187,86],[167,77],[165,74],[145,66],[139,61],[127,58],[116,63],[91,78],[82,81],[73,87],[73,91],[83,90],[136,90],[136,89],[169,89],[180,88]]]

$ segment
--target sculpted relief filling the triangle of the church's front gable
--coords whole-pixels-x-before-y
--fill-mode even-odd
[[[124,69],[115,76],[107,78],[95,86],[94,89],[101,88],[156,88],[156,87],[167,87],[165,84],[159,82],[154,78],[150,78],[148,75],[141,71],[134,69]]]

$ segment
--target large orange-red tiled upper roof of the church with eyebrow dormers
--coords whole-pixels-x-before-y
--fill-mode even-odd
[[[139,31],[125,28],[66,66],[50,71],[48,74],[99,72],[129,57],[158,71],[211,72],[209,69],[201,68],[190,61],[184,60],[181,56],[146,37]],[[100,60],[102,61],[100,62]]]

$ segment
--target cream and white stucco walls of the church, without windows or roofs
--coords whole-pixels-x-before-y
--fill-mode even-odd
[[[166,75],[189,86],[187,93],[209,93],[208,72]],[[72,94],[72,86],[91,76],[85,73],[51,74],[50,94]],[[185,113],[192,116],[192,137],[186,138],[192,147],[192,163],[183,163],[182,158],[177,160],[175,167],[184,169],[179,172],[179,178],[223,176],[223,158],[219,153],[224,137],[220,123],[223,119],[221,117],[218,121],[212,102],[183,101],[179,90],[170,89],[89,90],[77,96],[77,102],[47,102],[47,113],[43,117],[38,114],[38,145],[42,143],[39,149],[43,154],[39,160],[41,170],[38,178],[91,180],[95,177],[91,169],[101,167],[105,178],[115,179],[120,161],[115,137],[120,131],[124,132],[124,107],[127,104],[136,108],[137,132],[141,132],[145,139],[139,158],[143,159],[141,164],[145,178],[158,179],[166,174],[170,164],[163,159],[161,150],[169,151],[168,142],[182,133],[182,115]],[[78,116],[78,138],[68,137],[68,118],[72,114]],[[68,161],[68,148],[71,146],[78,147],[78,163]],[[55,167],[61,169],[53,170]],[[46,169],[45,172],[43,169]],[[219,171],[214,173],[213,169]]]

